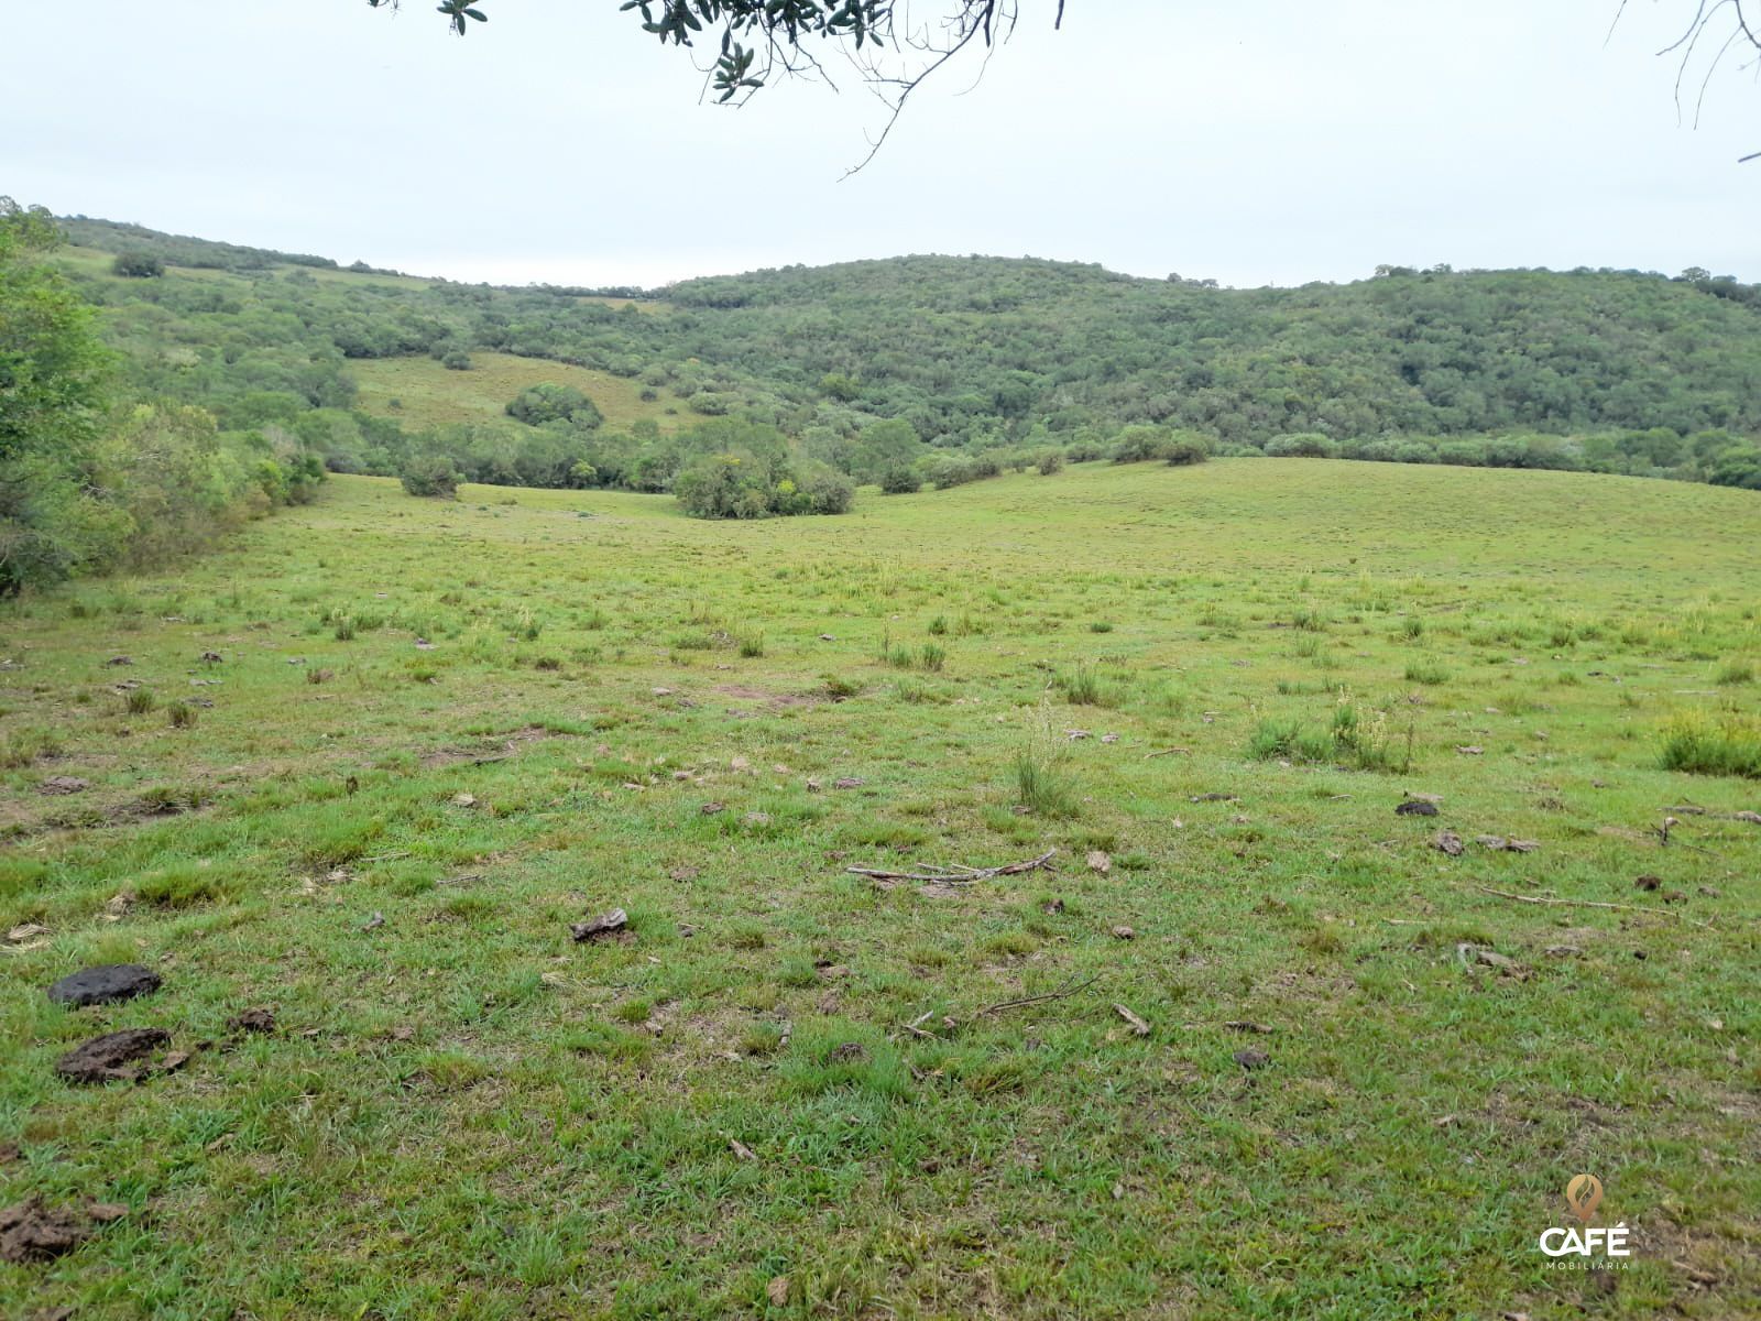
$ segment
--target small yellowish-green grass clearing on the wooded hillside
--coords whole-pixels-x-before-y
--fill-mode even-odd
[[[542,384],[574,386],[613,428],[652,417],[662,432],[673,432],[701,421],[671,389],[662,386],[657,400],[643,402],[643,382],[609,372],[495,352],[472,352],[470,363],[468,372],[451,372],[433,358],[380,358],[354,363],[350,373],[361,386],[361,409],[410,428],[507,421],[507,402]]]

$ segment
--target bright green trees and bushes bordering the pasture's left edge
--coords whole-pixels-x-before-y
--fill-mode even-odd
[[[46,211],[0,197],[0,595],[199,548],[324,479],[291,435],[114,391],[92,310],[46,262]]]

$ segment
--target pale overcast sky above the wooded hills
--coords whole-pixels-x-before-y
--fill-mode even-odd
[[[1067,0],[1057,33],[1021,0],[983,79],[946,72],[844,181],[884,113],[836,63],[842,93],[726,109],[618,0],[483,5],[465,39],[431,0],[11,5],[0,192],[511,284],[900,252],[1761,278],[1761,160],[1736,164],[1761,83],[1733,63],[1696,130],[1654,55],[1692,0],[1632,0],[1611,37],[1618,0]]]

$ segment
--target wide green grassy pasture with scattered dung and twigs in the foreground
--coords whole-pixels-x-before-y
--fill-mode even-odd
[[[1756,715],[1757,544],[1386,463],[343,477],[9,606],[4,1201],[129,1210],[0,1314],[1757,1316],[1761,784],[1661,768]],[[120,1027],[190,1059],[55,1076]],[[1580,1171],[1624,1270],[1536,1249]]]

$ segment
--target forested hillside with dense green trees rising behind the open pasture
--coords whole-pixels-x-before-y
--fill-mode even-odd
[[[137,389],[201,403],[227,428],[294,430],[338,470],[440,454],[477,481],[671,490],[729,444],[727,424],[701,424],[738,419],[740,444],[770,446],[773,469],[891,474],[895,488],[1048,453],[1106,456],[1141,426],[1162,432],[1134,433],[1145,454],[1189,433],[1212,453],[1761,484],[1761,287],[1705,271],[1384,268],[1347,285],[1236,291],[1032,259],[895,257],[641,294],[493,289],[109,222],[63,227]],[[498,402],[467,407],[481,393],[474,354],[579,368],[553,384],[595,407],[486,416]],[[377,366],[398,359],[410,368],[396,377]],[[421,393],[419,417],[400,417],[398,382]],[[616,419],[595,393],[615,396]],[[888,421],[909,435],[863,440]]]

